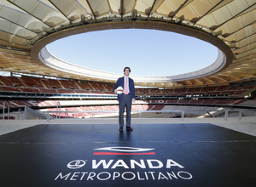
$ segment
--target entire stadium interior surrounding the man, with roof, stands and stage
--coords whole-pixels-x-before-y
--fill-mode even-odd
[[[255,20],[254,0],[1,0],[0,184],[254,186]],[[195,37],[218,58],[180,75],[131,75],[135,130],[119,133],[123,75],[46,45],[129,29]]]

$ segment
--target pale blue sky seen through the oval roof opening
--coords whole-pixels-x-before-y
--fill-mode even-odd
[[[98,71],[131,76],[172,76],[197,71],[218,57],[218,48],[208,42],[169,31],[91,31],[49,43],[55,57]]]

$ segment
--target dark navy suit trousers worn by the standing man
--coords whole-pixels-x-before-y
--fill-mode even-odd
[[[124,112],[126,108],[126,127],[131,127],[131,98],[123,94],[119,101],[119,127],[124,127]]]

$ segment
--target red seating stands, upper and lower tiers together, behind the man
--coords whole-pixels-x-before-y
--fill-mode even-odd
[[[255,89],[256,87],[253,86],[241,88],[230,87],[230,85],[168,89],[136,88],[137,103],[132,106],[132,110],[160,111],[166,105],[248,105],[254,107],[255,104],[252,104],[253,100],[244,99],[243,96],[245,93],[250,93]],[[24,94],[25,96],[22,99],[18,99],[20,94]],[[44,99],[40,98],[41,94],[44,95]],[[68,105],[74,106],[73,108],[61,108],[61,110],[119,110],[118,105],[91,105],[89,107],[73,103],[73,99],[77,99],[78,94],[94,95],[94,99],[97,99],[97,96],[101,95],[113,95],[115,97],[115,94],[113,94],[113,84],[110,83],[55,80],[40,77],[0,77],[0,95],[3,98],[0,100],[0,109],[3,109],[3,102],[7,101],[9,107],[14,110],[26,105],[29,107],[49,108],[49,110],[55,111],[57,99],[53,98],[49,100],[49,97],[60,94],[69,95],[70,99],[67,100]],[[37,99],[38,97],[39,99]],[[116,98],[110,99],[115,100]],[[71,113],[68,115],[68,117],[76,116],[88,117],[91,116],[91,113]]]

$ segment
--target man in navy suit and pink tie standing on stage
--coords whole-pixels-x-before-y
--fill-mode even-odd
[[[135,101],[135,88],[134,82],[129,77],[131,72],[130,67],[125,67],[124,69],[124,77],[119,77],[117,82],[113,87],[113,93],[117,94],[117,88],[122,87],[124,88],[123,94],[118,94],[119,100],[119,131],[123,131],[124,127],[124,112],[126,108],[126,130],[132,131],[133,128],[131,127],[131,101]]]

